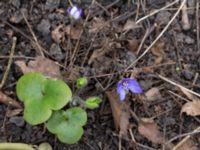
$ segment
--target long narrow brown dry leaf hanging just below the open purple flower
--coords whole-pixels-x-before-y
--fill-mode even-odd
[[[115,128],[120,130],[120,135],[127,136],[130,118],[129,106],[120,102],[115,90],[106,92],[106,95],[111,105]]]

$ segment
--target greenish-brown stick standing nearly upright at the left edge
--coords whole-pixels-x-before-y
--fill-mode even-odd
[[[1,84],[0,84],[0,89],[4,86],[4,83],[5,83],[5,81],[8,77],[8,72],[9,72],[10,66],[12,64],[12,59],[13,59],[13,55],[14,55],[14,52],[15,52],[16,43],[17,43],[17,38],[13,37],[12,47],[11,47],[11,50],[10,50],[10,57],[9,57],[9,60],[8,60],[8,65],[7,65],[6,71],[4,73],[4,76],[3,76]]]

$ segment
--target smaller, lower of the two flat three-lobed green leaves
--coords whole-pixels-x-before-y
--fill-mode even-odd
[[[74,144],[83,135],[82,126],[87,122],[85,110],[79,107],[56,111],[47,122],[47,129],[63,143]]]

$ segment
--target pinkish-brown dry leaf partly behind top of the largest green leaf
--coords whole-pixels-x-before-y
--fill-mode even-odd
[[[62,79],[59,66],[50,59],[39,56],[34,61],[29,61],[28,65],[23,60],[16,61],[15,63],[23,73],[40,72],[49,77]]]

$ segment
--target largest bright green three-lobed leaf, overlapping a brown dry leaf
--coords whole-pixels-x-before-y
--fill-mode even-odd
[[[32,125],[47,121],[52,110],[61,109],[72,97],[64,81],[46,78],[40,73],[23,75],[17,82],[16,90],[25,105],[24,119]]]

